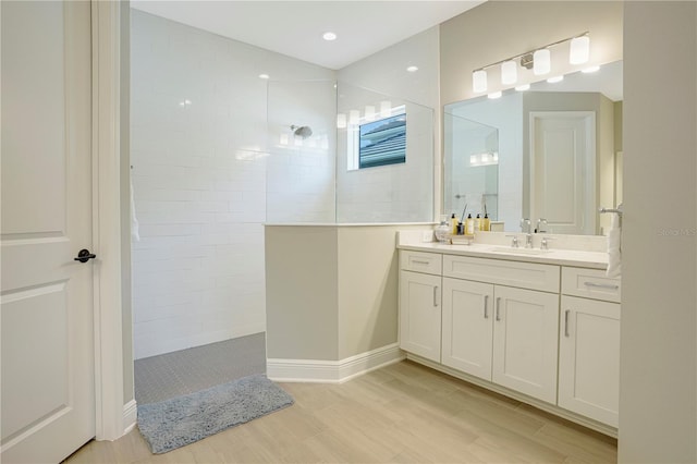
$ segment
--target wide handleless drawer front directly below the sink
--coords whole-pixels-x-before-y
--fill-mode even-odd
[[[554,265],[445,255],[443,276],[542,292],[559,292],[559,266]]]

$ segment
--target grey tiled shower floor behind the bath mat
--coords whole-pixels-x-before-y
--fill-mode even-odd
[[[266,373],[266,334],[255,333],[135,361],[135,400],[157,403]]]

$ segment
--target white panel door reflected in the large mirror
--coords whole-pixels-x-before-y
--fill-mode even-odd
[[[530,219],[552,233],[596,233],[596,117],[530,113]]]

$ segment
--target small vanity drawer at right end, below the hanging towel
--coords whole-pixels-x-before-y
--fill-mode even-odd
[[[563,267],[562,293],[620,303],[622,283],[620,279],[607,278],[604,270]]]

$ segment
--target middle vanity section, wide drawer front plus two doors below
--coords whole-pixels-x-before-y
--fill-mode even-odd
[[[443,256],[442,364],[555,403],[559,272]]]

